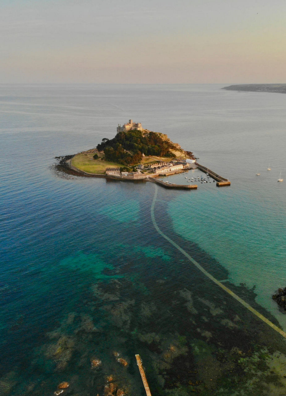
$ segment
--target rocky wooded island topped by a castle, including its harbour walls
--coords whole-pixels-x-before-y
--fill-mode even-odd
[[[229,180],[198,164],[193,152],[183,150],[167,135],[144,129],[133,120],[123,126],[118,124],[113,139],[104,138],[95,148],[57,159],[57,170],[76,176],[155,181],[167,188],[197,188],[194,184],[169,184],[157,178],[199,168],[213,177],[218,186],[230,185]]]

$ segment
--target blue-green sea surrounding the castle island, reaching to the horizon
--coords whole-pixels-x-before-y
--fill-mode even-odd
[[[286,95],[226,85],[0,85],[1,396],[143,396],[135,354],[152,395],[286,394],[283,335],[176,248],[286,331]],[[231,186],[57,168],[131,118]]]

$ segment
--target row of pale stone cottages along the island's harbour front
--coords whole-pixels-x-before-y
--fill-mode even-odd
[[[120,168],[107,168],[105,173],[107,175],[114,175],[114,176],[128,176],[128,177],[144,177],[144,173],[142,170],[149,170],[153,173],[170,173],[176,172],[179,170],[184,170],[189,168],[189,164],[186,161],[171,161],[171,162],[163,162],[160,161],[156,164],[151,164],[144,167],[144,164],[140,164],[137,168],[136,172],[120,172]]]

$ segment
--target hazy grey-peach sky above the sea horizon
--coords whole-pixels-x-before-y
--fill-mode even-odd
[[[1,0],[0,82],[286,82],[285,0]]]

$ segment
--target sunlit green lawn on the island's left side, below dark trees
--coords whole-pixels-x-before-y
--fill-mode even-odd
[[[93,159],[94,153],[83,154],[79,153],[72,158],[72,166],[88,173],[105,173],[106,168],[119,168],[120,164],[117,162],[102,161],[100,158]]]

